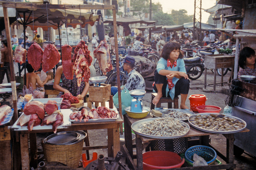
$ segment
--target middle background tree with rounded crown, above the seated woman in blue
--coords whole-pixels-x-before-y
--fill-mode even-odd
[[[174,25],[171,14],[164,13],[163,11],[158,11],[155,13],[153,20],[157,21],[156,25]]]

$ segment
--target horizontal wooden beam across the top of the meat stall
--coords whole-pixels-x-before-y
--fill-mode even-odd
[[[1,4],[1,3],[0,3]],[[35,3],[13,3],[13,2],[2,2],[5,8],[23,8],[23,9],[46,9],[46,4],[35,4]],[[115,5],[60,5],[60,4],[47,4],[49,9],[83,9],[83,10],[115,10]]]

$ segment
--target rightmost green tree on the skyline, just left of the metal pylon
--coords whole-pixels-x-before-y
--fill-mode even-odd
[[[175,25],[193,22],[193,15],[188,15],[188,12],[184,9],[180,9],[179,11],[172,10],[171,16]]]

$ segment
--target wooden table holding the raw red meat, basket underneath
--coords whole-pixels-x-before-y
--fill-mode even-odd
[[[58,131],[78,131],[78,130],[92,130],[92,129],[108,129],[108,145],[106,146],[87,146],[83,150],[90,149],[104,149],[108,148],[108,157],[113,157],[120,151],[120,132],[119,127],[122,123],[122,118],[117,118],[114,122],[97,122],[97,123],[72,123],[68,129],[58,129]],[[52,130],[32,130],[20,132],[20,150],[21,150],[21,165],[22,170],[29,170],[29,160],[31,158],[31,165],[37,165],[37,150],[36,150],[36,133],[52,132]],[[28,147],[28,133],[30,138],[30,155]],[[33,160],[33,158],[36,158]]]

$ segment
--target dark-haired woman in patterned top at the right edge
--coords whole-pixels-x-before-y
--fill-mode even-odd
[[[238,65],[239,72],[237,75],[253,75],[256,76],[256,56],[255,51],[250,47],[244,47],[239,54]],[[256,80],[251,81],[256,84]]]

